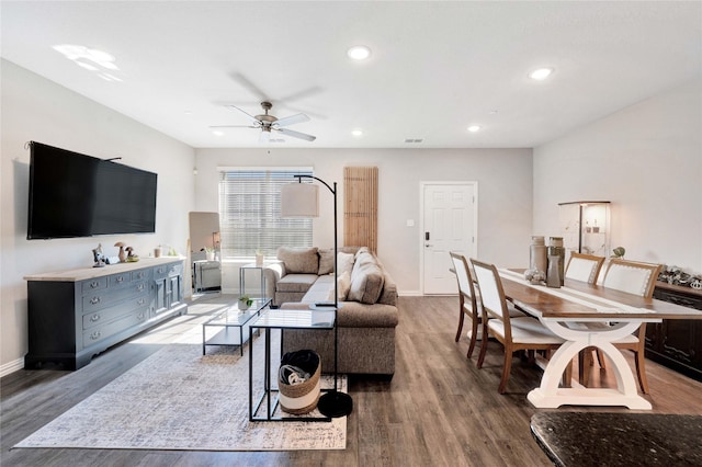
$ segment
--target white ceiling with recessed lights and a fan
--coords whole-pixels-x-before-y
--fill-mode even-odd
[[[702,76],[700,1],[3,0],[1,21],[3,58],[196,148],[257,147],[256,129],[210,126],[263,98],[317,136],[276,147],[535,147]],[[59,44],[110,53],[122,81]],[[347,57],[358,44],[370,59]]]

